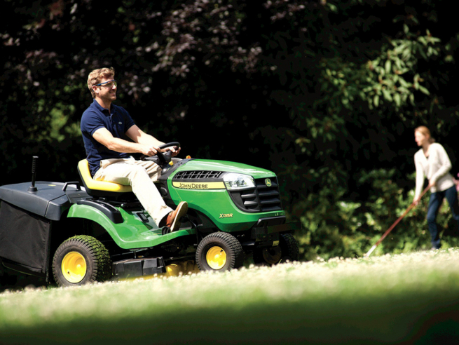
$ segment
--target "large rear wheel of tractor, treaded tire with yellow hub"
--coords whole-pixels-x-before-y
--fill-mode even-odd
[[[53,276],[59,286],[108,280],[111,278],[109,251],[91,236],[69,238],[55,252]]]

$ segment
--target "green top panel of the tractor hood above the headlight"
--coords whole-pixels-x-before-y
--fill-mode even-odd
[[[186,164],[181,165],[179,168],[177,168],[176,172],[201,170],[215,172],[238,172],[240,174],[250,175],[254,177],[254,179],[264,177],[275,177],[274,172],[262,168],[256,168],[252,165],[228,161],[212,161],[209,159],[192,159],[186,162]]]

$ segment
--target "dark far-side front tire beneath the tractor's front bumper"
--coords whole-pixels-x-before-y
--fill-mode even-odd
[[[299,248],[292,234],[280,234],[279,245],[270,248],[255,248],[254,263],[275,265],[299,259]]]

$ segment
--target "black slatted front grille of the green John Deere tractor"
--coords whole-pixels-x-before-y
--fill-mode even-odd
[[[256,188],[242,191],[230,191],[234,203],[245,212],[271,212],[282,210],[278,180],[270,178],[271,185],[266,185],[266,179],[256,179]]]

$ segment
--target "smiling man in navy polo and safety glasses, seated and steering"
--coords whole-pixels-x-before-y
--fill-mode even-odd
[[[159,149],[163,142],[140,130],[123,107],[112,104],[116,100],[114,76],[113,68],[95,69],[88,76],[88,88],[94,101],[83,112],[81,133],[91,175],[94,180],[130,185],[156,224],[177,230],[188,205],[181,202],[175,211],[165,205],[153,185],[160,176],[160,166],[153,161],[135,160],[130,154],[154,156],[160,150],[170,150],[174,157],[180,148]],[[125,136],[133,142],[124,140]]]

